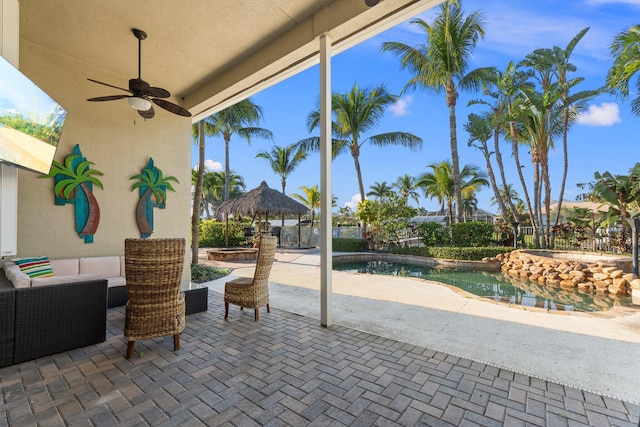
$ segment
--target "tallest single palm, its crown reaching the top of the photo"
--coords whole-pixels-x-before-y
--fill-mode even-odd
[[[413,77],[407,89],[423,88],[445,93],[449,108],[449,135],[453,161],[455,197],[458,221],[462,218],[462,181],[456,134],[456,103],[459,90],[477,90],[483,75],[490,70],[481,68],[467,73],[477,41],[484,38],[483,15],[479,11],[465,17],[461,0],[447,0],[440,4],[433,24],[416,18],[410,21],[425,33],[426,44],[411,47],[399,42],[386,42],[383,51],[401,58],[402,68],[409,69]]]

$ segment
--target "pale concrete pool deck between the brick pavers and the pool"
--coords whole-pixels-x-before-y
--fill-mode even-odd
[[[206,255],[203,256],[206,258]],[[222,265],[207,283],[222,293],[252,262]],[[320,319],[317,249],[279,249],[270,278],[277,307]],[[337,325],[426,347],[631,403],[640,402],[640,311],[547,312],[470,297],[420,279],[333,272]]]

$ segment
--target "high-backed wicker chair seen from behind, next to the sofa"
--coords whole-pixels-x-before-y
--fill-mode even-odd
[[[184,239],[125,240],[127,359],[135,342],[143,339],[173,335],[174,350],[180,349],[185,327],[184,292],[180,291],[184,251]]]

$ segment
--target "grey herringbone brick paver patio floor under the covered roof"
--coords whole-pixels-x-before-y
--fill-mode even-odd
[[[109,310],[106,342],[0,369],[0,426],[638,426],[635,404],[278,309],[256,323],[232,308],[224,321],[210,291],[181,350],[171,337],[140,341],[130,360],[124,308]]]

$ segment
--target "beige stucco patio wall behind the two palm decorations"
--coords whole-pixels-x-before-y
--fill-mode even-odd
[[[107,64],[105,64],[107,65]],[[87,102],[95,96],[118,94],[87,80],[88,77],[127,87],[131,76],[105,70],[20,43],[20,69],[67,109],[67,121],[56,160],[62,162],[79,144],[92,167],[104,173],[104,189],[94,186],[100,205],[100,225],[94,243],[86,244],[74,226],[73,205],[54,205],[53,180],[21,170],[18,176],[18,256],[48,255],[50,258],[121,255],[124,240],[140,237],[135,208],[138,190],[134,180],[152,157],[165,176],[178,178],[175,192],[167,192],[166,209],[154,209],[153,237],[184,237],[190,244],[191,121],[155,107],[156,116],[145,121],[127,100]],[[176,69],[179,66],[176,65]],[[144,76],[143,76],[144,78]],[[161,86],[162,82],[152,82]],[[168,88],[169,90],[171,88]],[[172,100],[175,102],[175,100]],[[135,121],[135,124],[134,124]],[[189,283],[190,251],[185,255],[183,286]]]

